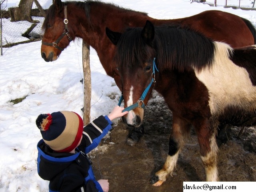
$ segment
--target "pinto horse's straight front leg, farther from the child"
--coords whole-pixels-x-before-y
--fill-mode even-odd
[[[218,121],[210,119],[196,122],[196,134],[200,146],[201,159],[206,171],[206,181],[218,181],[216,132]]]

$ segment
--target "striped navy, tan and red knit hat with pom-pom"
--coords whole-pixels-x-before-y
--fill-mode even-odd
[[[76,148],[84,127],[82,118],[71,111],[40,114],[36,126],[44,142],[56,152],[70,152]]]

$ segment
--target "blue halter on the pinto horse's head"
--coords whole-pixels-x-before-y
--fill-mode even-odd
[[[144,101],[146,95],[148,94],[148,91],[149,91],[152,83],[156,82],[156,80],[155,80],[155,69],[157,71],[158,71],[158,69],[156,68],[156,61],[155,60],[156,60],[156,58],[153,59],[153,71],[152,71],[152,75],[151,75],[152,80],[151,80],[150,84],[146,87],[146,89],[144,90],[144,92],[140,96],[140,99],[136,103],[132,104],[131,106],[126,107],[122,112],[130,111],[130,110],[133,110],[137,107],[145,109],[145,104],[144,104],[143,101]],[[118,102],[118,106],[121,106],[121,103],[122,103],[123,100],[124,100],[124,96],[123,96],[123,93],[122,93],[122,95],[120,97],[120,100]]]

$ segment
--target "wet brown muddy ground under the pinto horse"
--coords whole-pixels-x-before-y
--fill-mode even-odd
[[[166,160],[172,126],[172,113],[164,100],[150,100],[143,125],[143,136],[130,146],[127,137],[133,128],[120,120],[98,150],[90,153],[94,174],[97,179],[109,180],[109,192],[182,192],[184,181],[205,181],[199,145],[192,129],[173,176],[160,187],[152,186],[150,178]],[[244,128],[238,138],[240,130],[232,127],[228,142],[219,146],[220,181],[256,181],[256,128]]]

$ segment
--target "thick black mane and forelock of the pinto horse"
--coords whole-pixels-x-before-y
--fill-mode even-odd
[[[122,34],[118,42],[116,62],[130,65],[147,62],[149,49],[141,37],[142,28],[131,28]],[[210,67],[214,60],[214,41],[202,34],[181,26],[157,26],[152,48],[156,51],[159,70],[197,70]],[[227,50],[228,51],[228,50]],[[126,61],[126,62],[123,62]]]

